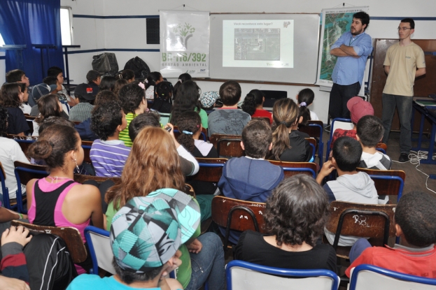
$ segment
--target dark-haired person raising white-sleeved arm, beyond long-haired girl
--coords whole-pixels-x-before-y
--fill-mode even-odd
[[[132,142],[136,139],[136,136],[138,136],[139,132],[146,127],[152,126],[160,128],[161,126],[159,118],[159,114],[153,112],[144,113],[134,118],[129,124],[129,138],[132,140]],[[172,124],[168,123],[167,126],[171,127],[171,131],[169,133],[173,137],[174,144],[176,145],[183,175],[190,176],[197,174],[199,171],[198,161],[192,156],[192,154],[190,154],[190,152],[188,152],[188,150],[186,150],[177,142],[176,138],[174,137],[174,132],[172,131]]]

